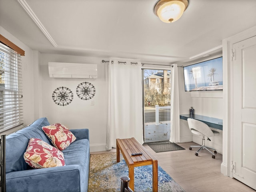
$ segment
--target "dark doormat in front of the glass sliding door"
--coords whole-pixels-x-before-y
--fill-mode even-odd
[[[151,143],[148,144],[156,153],[164,151],[176,151],[183,150],[184,148],[177,145],[176,143],[171,142],[162,142],[162,143]]]

